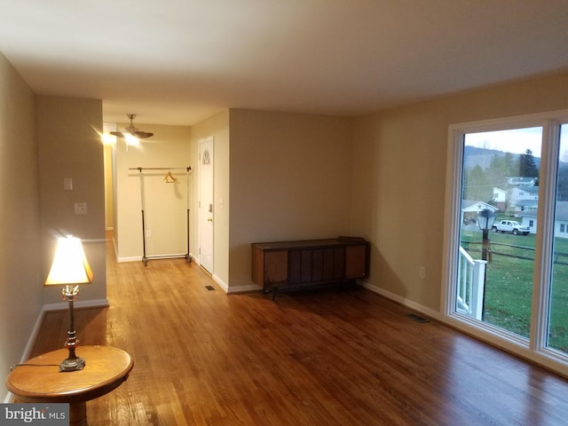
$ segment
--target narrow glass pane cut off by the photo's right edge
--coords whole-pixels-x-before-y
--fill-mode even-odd
[[[568,353],[568,124],[560,127],[548,347]]]

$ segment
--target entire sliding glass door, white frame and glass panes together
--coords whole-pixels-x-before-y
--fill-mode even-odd
[[[568,112],[450,127],[448,319],[568,365]]]

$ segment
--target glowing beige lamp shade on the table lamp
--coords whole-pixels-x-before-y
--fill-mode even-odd
[[[90,284],[92,278],[91,265],[87,261],[81,240],[72,236],[59,238],[50,273],[43,285]]]

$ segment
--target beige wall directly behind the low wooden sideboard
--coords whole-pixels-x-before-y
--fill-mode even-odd
[[[230,288],[248,288],[250,243],[351,234],[351,121],[231,110]]]

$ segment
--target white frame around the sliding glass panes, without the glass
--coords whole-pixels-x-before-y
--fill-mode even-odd
[[[479,122],[462,122],[448,127],[446,160],[446,205],[442,265],[441,314],[447,323],[465,333],[492,343],[506,351],[533,360],[568,375],[568,355],[548,348],[548,315],[552,250],[555,235],[556,178],[560,126],[568,123],[568,110],[527,114]],[[460,245],[461,187],[463,179],[464,138],[468,133],[493,130],[542,128],[537,217],[536,255],[533,275],[533,305],[530,338],[515,335],[500,327],[456,312],[457,262]]]

